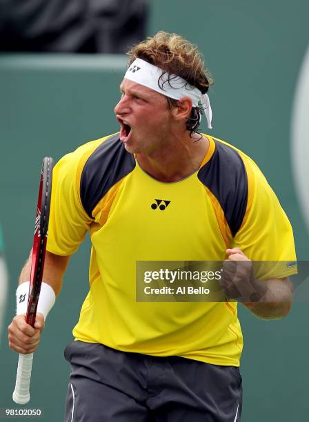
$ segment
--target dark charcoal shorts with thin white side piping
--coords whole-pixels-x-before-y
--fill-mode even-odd
[[[73,341],[65,422],[238,422],[239,368]]]

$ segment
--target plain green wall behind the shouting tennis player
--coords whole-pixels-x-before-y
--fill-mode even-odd
[[[259,164],[295,231],[299,259],[308,260],[290,161],[290,119],[301,61],[308,47],[309,3],[279,0],[152,0],[149,33],[178,32],[198,44],[215,78],[210,89],[211,131]],[[6,324],[14,314],[14,290],[33,233],[34,203],[42,157],[58,160],[85,141],[118,130],[112,112],[125,57],[0,56],[0,221],[6,240],[10,294]],[[203,129],[206,128],[203,123]],[[86,241],[72,258],[63,290],[48,316],[34,356],[32,399],[41,421],[63,418],[68,364],[63,349],[88,292]],[[308,421],[308,303],[295,303],[282,321],[261,321],[239,306],[245,348],[243,422]],[[11,399],[17,354],[0,345],[0,408]],[[207,386],[206,386],[207,387]]]

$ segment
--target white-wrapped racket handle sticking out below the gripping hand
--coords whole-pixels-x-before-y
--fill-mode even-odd
[[[17,404],[26,404],[30,400],[30,378],[33,353],[19,354],[13,400]]]

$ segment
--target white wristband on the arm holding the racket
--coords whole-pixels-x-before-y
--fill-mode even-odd
[[[16,290],[17,315],[27,313],[29,285],[30,281],[26,281],[26,283],[19,284]],[[37,304],[37,312],[44,315],[44,320],[46,320],[48,312],[50,312],[54,306],[55,301],[56,295],[54,294],[54,289],[49,284],[42,282],[39,303]]]

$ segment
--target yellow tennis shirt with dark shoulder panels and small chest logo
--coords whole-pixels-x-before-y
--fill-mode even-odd
[[[54,167],[48,251],[70,255],[88,231],[92,243],[75,339],[239,365],[237,303],[136,301],[136,261],[221,261],[236,246],[254,261],[296,259],[288,218],[257,165],[207,137],[199,170],[175,183],[143,172],[119,134],[86,143]],[[283,265],[268,277],[293,273]]]

